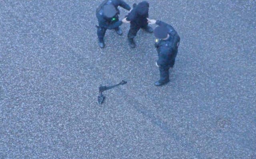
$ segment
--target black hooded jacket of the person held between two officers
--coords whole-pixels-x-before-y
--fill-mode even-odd
[[[147,26],[148,25],[148,9],[149,3],[146,1],[140,2],[133,10],[128,14],[127,19],[131,22],[131,25]]]

